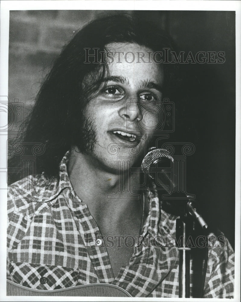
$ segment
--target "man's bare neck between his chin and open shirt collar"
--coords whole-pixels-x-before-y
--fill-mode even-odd
[[[106,200],[107,195],[115,194],[116,198],[131,199],[134,194],[140,194],[138,190],[131,189],[140,184],[140,173],[128,173],[128,171],[108,171],[103,169],[93,156],[70,151],[68,162],[68,175],[76,194],[83,200]],[[111,201],[112,198],[108,198]]]

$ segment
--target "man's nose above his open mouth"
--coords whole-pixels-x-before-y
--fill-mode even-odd
[[[141,120],[138,99],[125,102],[119,109],[119,116],[128,121]]]

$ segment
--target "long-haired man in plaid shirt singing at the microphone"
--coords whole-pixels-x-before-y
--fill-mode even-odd
[[[9,280],[178,297],[176,216],[145,189],[140,169],[168,96],[173,66],[160,62],[171,47],[153,24],[119,15],[88,24],[56,59],[23,140],[26,154],[34,142],[44,152],[36,171],[8,190]],[[227,240],[209,249],[203,297],[232,297],[233,255]],[[194,274],[192,267],[191,296]]]

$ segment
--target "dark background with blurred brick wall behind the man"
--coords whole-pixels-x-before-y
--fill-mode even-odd
[[[24,102],[25,117],[63,45],[95,16],[120,12],[10,12],[8,96]],[[177,53],[225,52],[223,64],[179,64],[181,80],[170,95],[176,127],[169,141],[195,145],[195,153],[187,157],[187,191],[201,201],[204,218],[223,231],[234,248],[235,12],[125,12],[159,23],[173,37]]]

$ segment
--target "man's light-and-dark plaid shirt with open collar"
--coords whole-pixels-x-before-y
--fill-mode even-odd
[[[143,241],[114,278],[105,244],[98,241],[100,230],[71,186],[67,161],[68,152],[59,181],[38,175],[9,187],[7,278],[32,289],[109,283],[133,297],[178,297],[178,250],[172,237],[176,217],[160,210],[158,197],[149,191]],[[234,253],[227,239],[224,243],[209,248],[206,298],[233,297]],[[191,259],[191,297],[195,280]]]

